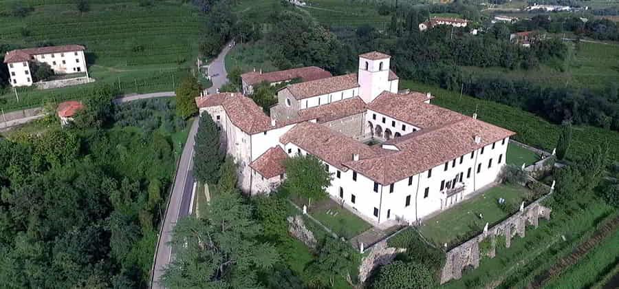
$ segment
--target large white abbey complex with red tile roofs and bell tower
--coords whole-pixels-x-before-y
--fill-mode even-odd
[[[221,127],[243,191],[270,192],[283,160],[309,153],[332,173],[334,200],[374,224],[414,222],[495,181],[514,132],[432,105],[429,93],[398,93],[389,60],[370,52],[356,74],[287,85],[271,117],[240,93],[196,103]]]

